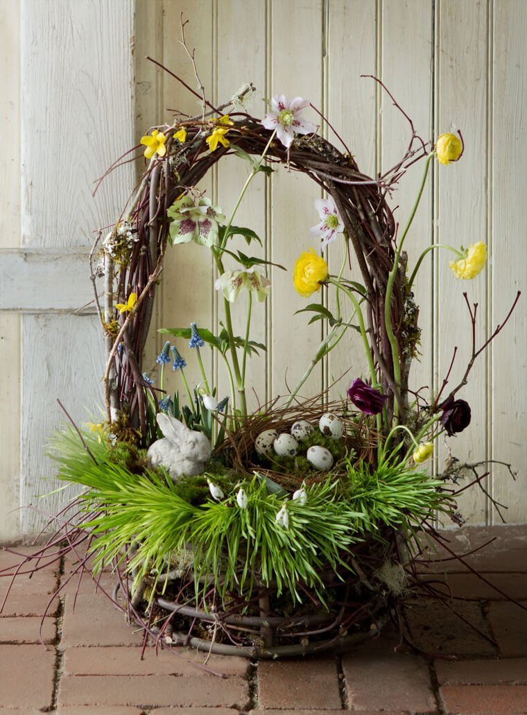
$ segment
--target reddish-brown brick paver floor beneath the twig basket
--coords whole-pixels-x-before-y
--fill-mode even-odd
[[[398,647],[386,628],[343,656],[251,663],[213,655],[206,670],[192,650],[149,648],[142,658],[141,633],[93,582],[84,578],[79,593],[70,582],[53,598],[72,564],[62,575],[44,565],[16,579],[0,614],[0,715],[527,714],[527,526],[448,538],[457,553],[493,541],[466,564],[448,550],[423,564],[421,578],[444,583],[445,595],[451,589],[459,617],[433,598],[409,601],[406,627],[419,651]],[[0,570],[16,561],[0,551]],[[101,585],[111,589],[110,575]],[[0,578],[0,603],[8,586]]]

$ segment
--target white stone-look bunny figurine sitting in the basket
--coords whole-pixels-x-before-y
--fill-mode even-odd
[[[210,460],[210,440],[202,432],[189,430],[179,420],[162,412],[157,415],[157,424],[164,439],[149,446],[149,466],[167,468],[174,482],[182,475],[202,474]]]

